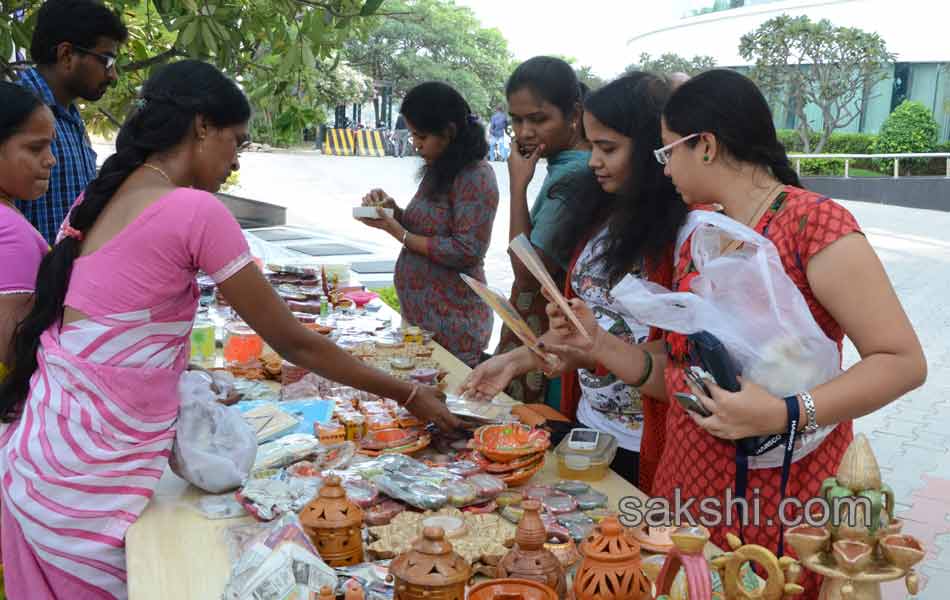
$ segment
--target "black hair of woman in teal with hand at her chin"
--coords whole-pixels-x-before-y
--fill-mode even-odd
[[[571,65],[553,56],[535,56],[520,65],[508,77],[505,96],[528,89],[542,100],[553,104],[565,120],[574,116],[584,101],[585,88]]]

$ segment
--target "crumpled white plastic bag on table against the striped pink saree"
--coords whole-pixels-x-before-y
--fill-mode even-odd
[[[206,373],[178,381],[181,407],[169,464],[185,481],[214,494],[236,489],[257,456],[254,430],[236,410],[219,404]]]

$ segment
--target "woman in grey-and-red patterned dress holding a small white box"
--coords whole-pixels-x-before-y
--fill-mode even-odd
[[[379,218],[360,220],[403,245],[394,273],[403,318],[435,333],[437,342],[474,367],[491,337],[492,311],[459,274],[485,281],[498,208],[485,128],[444,83],[411,89],[399,112],[425,161],[422,182],[405,210],[383,190],[371,191],[363,204],[379,206]]]

